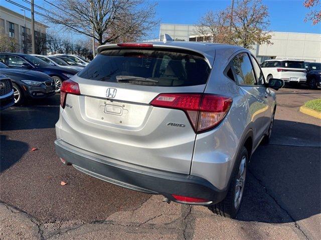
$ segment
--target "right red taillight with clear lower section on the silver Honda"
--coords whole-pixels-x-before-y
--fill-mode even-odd
[[[185,111],[195,132],[200,133],[223,120],[230,109],[232,98],[202,93],[161,93],[150,104]]]

